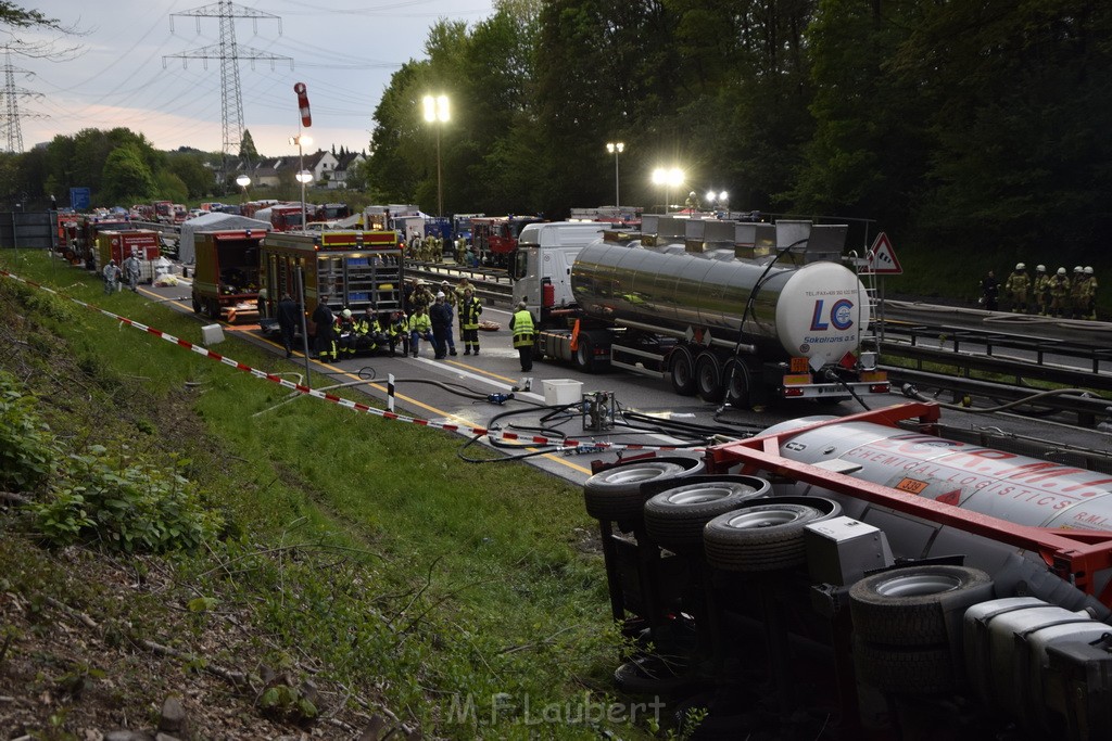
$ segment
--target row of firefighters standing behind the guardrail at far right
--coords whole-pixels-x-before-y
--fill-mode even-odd
[[[1096,276],[1091,266],[1076,266],[1072,276],[1064,267],[1050,273],[1046,266],[1035,266],[1032,277],[1026,266],[1020,262],[1004,280],[1003,288],[1011,311],[1064,319],[1096,319]],[[994,311],[1000,284],[992,271],[981,281],[981,290],[985,309]]]

